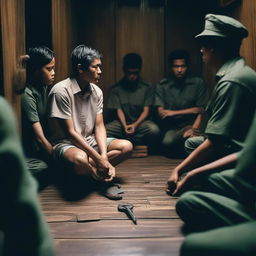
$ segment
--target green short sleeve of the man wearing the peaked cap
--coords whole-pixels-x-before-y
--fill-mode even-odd
[[[255,111],[255,99],[244,86],[222,82],[209,105],[205,133],[225,136],[237,143],[245,140]]]

